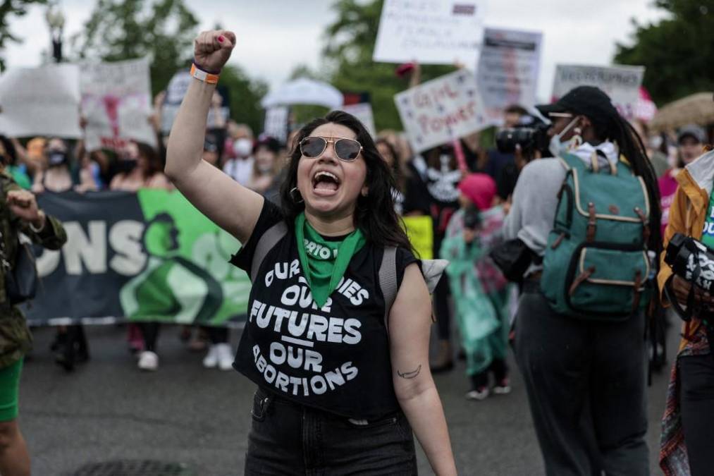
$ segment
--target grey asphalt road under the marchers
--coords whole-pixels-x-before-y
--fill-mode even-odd
[[[71,375],[54,365],[51,329],[36,346],[21,382],[21,427],[36,476],[71,475],[88,462],[136,459],[183,462],[195,475],[240,475],[253,385],[236,372],[205,370],[202,354],[162,334],[161,368],[136,370],[125,329],[89,327],[92,360]],[[233,332],[233,342],[238,339]],[[674,334],[674,333],[672,333]],[[672,336],[673,347],[676,336]],[[657,448],[667,380],[650,387],[650,448]],[[436,378],[463,475],[542,475],[526,393],[518,372],[511,395],[467,402],[463,364]],[[655,472],[656,451],[652,451]],[[431,474],[419,453],[421,474]]]

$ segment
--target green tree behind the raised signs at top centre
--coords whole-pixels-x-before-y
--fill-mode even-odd
[[[337,19],[326,29],[329,80],[341,91],[370,94],[377,130],[401,129],[394,94],[408,87],[394,74],[396,64],[376,63],[372,54],[377,38],[383,0],[367,3],[338,0],[333,5]],[[422,66],[422,81],[454,71],[453,66]]]

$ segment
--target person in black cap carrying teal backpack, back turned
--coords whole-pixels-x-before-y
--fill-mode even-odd
[[[523,168],[504,224],[504,238],[520,239],[536,255],[526,271],[518,303],[515,353],[526,384],[545,471],[549,476],[603,472],[648,475],[647,360],[640,278],[644,282],[650,269],[646,251],[660,249],[657,179],[637,134],[600,89],[579,86],[554,104],[536,107],[552,121],[548,130],[549,149],[555,158],[533,160]],[[573,170],[580,174],[580,182],[575,179],[575,187],[570,187],[566,179],[573,180]],[[598,173],[616,176],[596,178],[606,189],[606,193],[598,191],[600,202],[584,192],[585,176]],[[616,206],[615,197],[623,197],[623,192],[613,186],[620,183],[618,180],[633,184],[642,203],[640,207]],[[631,199],[631,195],[625,195],[625,199]],[[583,197],[585,202],[581,204]],[[608,219],[609,224],[603,222]],[[558,246],[568,249],[569,245],[563,245],[563,241],[573,242],[567,234],[553,239],[553,231],[561,220],[588,224],[587,238],[583,232],[581,247],[568,254],[569,259],[575,257],[570,259],[574,263],[570,266],[575,277],[572,282],[566,281],[565,287],[543,286],[548,283],[548,276],[558,272],[556,267],[548,266],[553,263],[548,257],[553,256]],[[643,272],[633,273],[640,274],[640,278],[635,277],[627,289],[618,288],[623,281],[600,286],[607,288],[600,292],[606,300],[611,299],[608,302],[625,293],[635,297],[623,299],[623,309],[627,309],[624,316],[603,312],[593,319],[588,313],[594,309],[588,309],[587,305],[580,314],[556,311],[562,308],[558,307],[557,299],[551,298],[554,292],[560,293],[565,302],[578,297],[577,293],[583,289],[595,296],[598,279],[590,277],[601,277],[597,273],[605,272],[608,266],[618,269],[613,263],[626,264],[624,257],[631,255],[615,249],[610,259],[598,262],[598,271],[594,265],[590,267],[591,261],[583,271],[585,253],[579,250],[589,246],[587,251],[597,257],[598,250],[592,248],[598,242],[616,241],[616,237],[603,237],[603,229],[628,222],[634,224],[620,226],[633,226],[638,233],[630,245],[638,247],[633,254],[639,256]],[[575,234],[575,228],[571,230]],[[645,301],[646,298],[641,299],[642,304]]]

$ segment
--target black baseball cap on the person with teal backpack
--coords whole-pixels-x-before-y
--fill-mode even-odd
[[[578,86],[570,89],[553,104],[535,106],[540,114],[547,117],[551,112],[571,112],[588,116],[593,122],[609,122],[619,116],[610,96],[595,86]]]

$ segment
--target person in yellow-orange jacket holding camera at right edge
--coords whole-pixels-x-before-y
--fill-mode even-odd
[[[665,248],[675,234],[700,240],[714,248],[714,199],[711,193],[714,152],[708,152],[687,164],[677,174],[679,184],[670,208],[665,230]],[[703,275],[710,269],[702,269]],[[673,274],[662,264],[658,274],[660,289],[680,304],[690,304],[692,319],[683,324],[683,339],[673,366],[663,417],[660,467],[665,475],[710,475],[714,470],[714,359],[710,351],[707,327],[714,324],[704,314],[714,309],[714,298],[699,287]],[[664,299],[664,297],[663,297]],[[674,303],[669,303],[674,304]],[[689,471],[688,471],[689,470]]]

